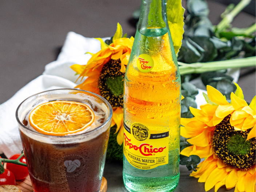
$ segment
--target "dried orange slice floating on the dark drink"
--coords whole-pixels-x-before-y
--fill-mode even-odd
[[[83,131],[94,119],[92,109],[83,103],[73,101],[43,103],[29,115],[29,123],[36,131],[56,136]]]

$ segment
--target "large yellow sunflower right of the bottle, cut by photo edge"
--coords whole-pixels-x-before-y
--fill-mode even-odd
[[[201,159],[190,176],[205,182],[205,191],[215,186],[235,187],[235,192],[255,192],[255,97],[251,104],[244,100],[237,85],[231,103],[217,89],[207,86],[206,104],[190,108],[195,116],[181,118],[181,135],[192,144],[181,155]]]

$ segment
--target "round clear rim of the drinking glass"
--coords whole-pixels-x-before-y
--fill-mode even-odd
[[[30,99],[31,97],[33,96],[36,96],[36,95],[39,95],[41,93],[45,93],[45,92],[49,92],[49,91],[58,91],[58,90],[74,90],[74,91],[82,91],[82,92],[86,92],[86,93],[91,93],[92,95],[96,96],[96,97],[99,97],[101,100],[103,100],[107,106],[109,107],[109,116],[107,118],[107,120],[101,124],[100,126],[96,127],[95,129],[91,130],[91,131],[88,131],[88,132],[85,132],[85,133],[80,133],[80,134],[76,134],[76,135],[68,135],[68,136],[56,136],[56,135],[46,135],[46,134],[43,134],[43,133],[40,133],[40,132],[37,132],[35,130],[32,130],[32,129],[29,129],[27,128],[23,123],[21,123],[19,117],[18,117],[18,111],[19,111],[19,108],[20,106],[25,102],[27,101],[28,99]],[[93,92],[90,92],[90,91],[85,91],[85,90],[81,90],[81,89],[71,89],[71,88],[62,88],[62,89],[51,89],[51,90],[47,90],[47,91],[42,91],[42,92],[39,92],[39,93],[36,93],[34,95],[31,95],[29,97],[27,97],[27,99],[23,100],[19,106],[17,107],[16,109],[16,112],[15,112],[15,116],[16,116],[16,120],[17,122],[19,123],[19,125],[21,125],[21,127],[23,127],[25,130],[29,131],[29,132],[32,132],[33,134],[36,134],[36,135],[39,135],[39,136],[44,136],[44,137],[51,137],[51,138],[72,138],[72,137],[77,137],[77,136],[83,136],[83,135],[89,135],[91,134],[92,132],[95,132],[97,130],[99,130],[101,127],[104,127],[104,125],[106,125],[109,121],[112,120],[112,115],[113,115],[113,109],[111,107],[111,105],[109,104],[109,102],[103,98],[102,96],[96,94],[96,93],[93,93]]]

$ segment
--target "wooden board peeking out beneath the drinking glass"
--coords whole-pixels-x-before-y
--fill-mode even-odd
[[[27,176],[26,179],[19,181],[16,181],[16,186],[22,191],[22,192],[33,192],[32,184],[30,177]],[[101,186],[100,186],[100,192],[106,192],[107,191],[107,179],[105,177],[102,178]]]

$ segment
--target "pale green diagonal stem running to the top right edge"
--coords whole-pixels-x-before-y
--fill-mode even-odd
[[[223,30],[225,30],[227,27],[229,27],[230,23],[233,21],[234,17],[241,11],[243,8],[245,8],[251,0],[241,0],[239,4],[236,5],[236,7],[229,12],[223,20],[220,21],[220,23],[216,26],[216,32],[219,33]]]

